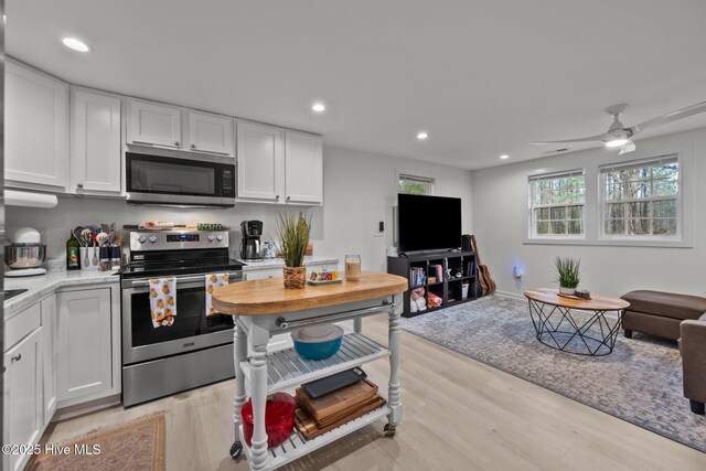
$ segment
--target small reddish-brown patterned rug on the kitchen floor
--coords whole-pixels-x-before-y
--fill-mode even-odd
[[[31,471],[164,471],[164,415],[98,430],[32,457]],[[58,454],[62,447],[67,453]],[[68,447],[68,448],[64,448]],[[88,454],[86,451],[93,454]],[[53,452],[52,452],[53,451]],[[97,452],[96,452],[97,451]]]

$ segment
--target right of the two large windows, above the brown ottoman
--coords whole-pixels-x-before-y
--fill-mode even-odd
[[[681,234],[677,156],[605,165],[602,233],[608,237],[677,237]]]

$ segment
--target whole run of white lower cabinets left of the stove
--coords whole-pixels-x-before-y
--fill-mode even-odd
[[[4,443],[36,445],[57,408],[120,393],[119,290],[65,289],[6,319]],[[29,457],[3,454],[2,470]]]

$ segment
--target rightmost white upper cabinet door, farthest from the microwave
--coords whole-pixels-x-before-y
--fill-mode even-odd
[[[321,138],[287,131],[285,139],[285,201],[320,204],[323,201]]]

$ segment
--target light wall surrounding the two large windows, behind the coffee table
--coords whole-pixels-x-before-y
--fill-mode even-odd
[[[633,289],[654,289],[706,295],[706,129],[697,129],[637,141],[640,153],[651,149],[693,149],[696,210],[694,244],[691,248],[624,247],[596,245],[523,244],[527,217],[527,176],[542,169],[580,169],[603,161],[616,150],[590,149],[472,172],[473,229],[482,263],[488,265],[498,290],[522,295],[525,289],[554,287],[553,260],[558,256],[581,258],[581,287],[591,292],[620,296]],[[630,160],[631,154],[614,160]],[[524,270],[521,280],[512,277],[513,266]]]

